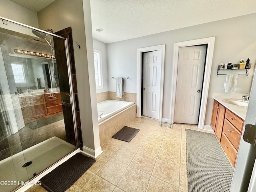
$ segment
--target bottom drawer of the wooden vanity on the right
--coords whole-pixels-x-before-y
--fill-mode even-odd
[[[232,165],[235,166],[237,151],[234,148],[234,146],[229,142],[228,138],[224,133],[222,133],[220,144],[224,149]]]

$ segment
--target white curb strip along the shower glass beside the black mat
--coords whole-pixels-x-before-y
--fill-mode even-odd
[[[71,158],[72,156],[74,156],[75,154],[79,153],[80,149],[76,149],[75,151],[73,151],[71,154],[69,154],[68,156],[66,156],[65,158],[63,158],[62,160],[60,160],[59,162],[57,162],[56,164],[54,164],[53,166],[51,166],[50,168],[44,170],[44,172],[40,173],[38,176],[36,176],[34,179],[31,179],[29,182],[24,182],[24,185],[20,188],[18,188],[15,192],[25,192],[26,190],[28,190],[30,187],[32,187],[33,185],[35,185],[42,177],[44,177],[46,174],[50,173],[52,170],[54,170],[56,167],[58,167],[60,164],[64,163],[66,160],[68,160],[69,158]]]

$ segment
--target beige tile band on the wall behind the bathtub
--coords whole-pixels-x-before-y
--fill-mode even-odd
[[[136,104],[136,93],[124,92],[124,95],[122,96],[122,98],[117,98],[116,92],[112,92],[112,91],[97,93],[97,102],[102,102],[108,99],[118,100],[118,101],[130,101]]]

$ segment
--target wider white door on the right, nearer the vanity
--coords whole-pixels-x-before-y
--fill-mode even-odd
[[[181,47],[174,122],[198,124],[206,45]]]

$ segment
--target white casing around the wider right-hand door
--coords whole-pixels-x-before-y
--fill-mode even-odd
[[[201,107],[200,107],[199,120],[198,120],[198,128],[204,129],[204,119],[205,119],[206,104],[207,104],[208,90],[209,90],[209,84],[210,84],[214,42],[215,42],[215,37],[209,37],[209,38],[178,42],[174,44],[174,62],[173,62],[174,65],[173,65],[172,85],[171,85],[172,93],[171,93],[171,106],[170,106],[170,124],[174,123],[179,48],[186,47],[186,46],[207,44],[204,81],[203,81],[203,87],[202,87],[202,99],[200,104]]]

